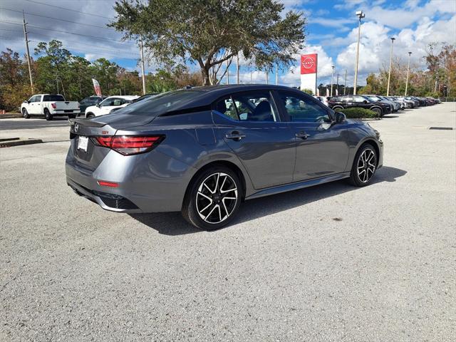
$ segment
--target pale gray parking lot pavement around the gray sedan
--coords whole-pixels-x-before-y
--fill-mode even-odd
[[[36,125],[36,126],[34,126]],[[371,123],[373,185],[244,203],[201,232],[66,186],[66,120],[0,120],[0,341],[454,341],[456,104]]]

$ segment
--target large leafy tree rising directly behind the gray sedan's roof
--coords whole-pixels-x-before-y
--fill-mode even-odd
[[[110,26],[125,38],[142,38],[157,61],[197,63],[204,85],[217,81],[212,68],[238,53],[271,69],[289,66],[304,44],[306,19],[282,14],[284,5],[275,0],[120,0],[114,9]]]

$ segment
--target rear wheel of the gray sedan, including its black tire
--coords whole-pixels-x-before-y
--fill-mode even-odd
[[[236,172],[224,166],[209,167],[190,183],[182,204],[182,216],[199,229],[220,229],[236,216],[242,194],[242,182]]]

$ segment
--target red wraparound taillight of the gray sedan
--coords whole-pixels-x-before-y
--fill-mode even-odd
[[[108,147],[122,155],[137,155],[149,152],[165,139],[163,135],[135,136],[120,135],[113,137],[95,137],[93,142],[98,146]]]

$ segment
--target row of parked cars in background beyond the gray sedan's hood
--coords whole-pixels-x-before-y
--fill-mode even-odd
[[[416,96],[341,95],[328,98],[328,107],[333,110],[365,108],[375,112],[378,117],[395,113],[398,110],[416,108],[423,105],[435,105],[436,103],[440,103],[440,100],[430,97],[418,98]]]

